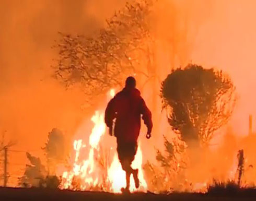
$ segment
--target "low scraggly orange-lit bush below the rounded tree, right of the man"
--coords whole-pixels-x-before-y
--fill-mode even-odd
[[[171,192],[181,190],[185,183],[184,170],[187,168],[186,145],[179,138],[171,142],[165,137],[165,152],[157,150],[156,160],[159,165],[147,161],[144,165],[150,190],[154,192]]]

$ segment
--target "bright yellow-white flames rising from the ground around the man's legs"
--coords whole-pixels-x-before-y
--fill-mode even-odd
[[[109,92],[111,97],[114,97],[115,91],[111,89]],[[96,111],[94,116],[91,117],[91,121],[94,123],[91,134],[89,136],[89,153],[88,158],[84,159],[81,155],[83,149],[86,147],[83,144],[82,139],[75,140],[73,143],[74,158],[73,168],[70,171],[65,171],[62,174],[61,188],[73,189],[73,190],[91,190],[98,186],[101,190],[110,191],[113,193],[120,193],[121,188],[126,186],[125,172],[122,170],[121,164],[118,159],[117,153],[115,153],[111,165],[107,167],[107,178],[103,181],[103,173],[106,170],[102,170],[97,162],[97,156],[99,155],[99,143],[102,136],[106,134],[106,125],[104,123],[104,112]],[[112,149],[109,147],[109,149]],[[132,163],[132,167],[138,169],[138,178],[140,181],[139,191],[147,190],[147,183],[144,179],[142,169],[142,150],[138,145],[138,150],[135,159]],[[109,182],[110,188],[107,188],[106,182]],[[136,191],[135,183],[131,178],[130,191]]]

